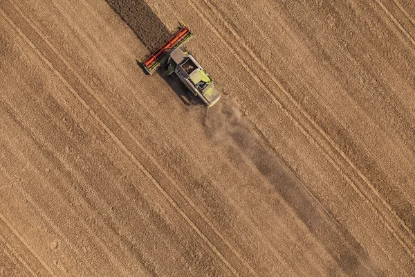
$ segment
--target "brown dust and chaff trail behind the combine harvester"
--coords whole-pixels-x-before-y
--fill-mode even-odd
[[[250,160],[345,273],[353,276],[382,276],[382,271],[349,230],[328,215],[326,210],[329,208],[324,207],[325,210],[315,200],[301,177],[291,172],[267,142],[253,131],[253,123],[243,116],[236,102],[222,96],[208,114],[201,116],[201,123],[205,126],[207,136],[240,152],[234,155],[236,159],[239,158],[238,163],[246,162],[243,157]],[[252,184],[252,187],[255,186],[258,184]]]

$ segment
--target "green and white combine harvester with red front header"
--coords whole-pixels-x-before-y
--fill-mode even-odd
[[[208,107],[212,107],[221,98],[214,88],[212,78],[196,62],[192,54],[181,49],[181,46],[191,37],[193,37],[193,33],[184,24],[181,24],[176,33],[167,42],[145,57],[143,62],[140,62],[150,75],[161,64],[167,62],[168,69],[165,74],[170,75],[173,72],[176,73],[178,78],[192,91],[194,96],[199,96]]]

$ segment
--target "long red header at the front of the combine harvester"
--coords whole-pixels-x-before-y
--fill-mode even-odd
[[[158,69],[160,64],[163,64],[165,60],[169,57],[169,54],[176,48],[183,45],[187,39],[193,37],[193,33],[190,32],[189,28],[187,28],[184,24],[176,30],[174,35],[170,37],[167,42],[165,42],[162,46],[160,46],[156,51],[147,55],[145,59],[142,61],[142,65],[144,66],[145,70],[151,75]]]

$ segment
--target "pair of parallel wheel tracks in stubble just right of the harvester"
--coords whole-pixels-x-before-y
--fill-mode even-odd
[[[340,154],[340,156],[347,161],[347,163],[349,164],[349,166],[351,166],[351,168],[353,168],[353,170],[358,173],[358,175],[360,176],[360,179],[362,179],[362,181],[365,182],[365,184],[367,184],[367,186],[369,186],[370,190],[376,195],[376,197],[380,200],[380,202],[382,202],[383,206],[385,206],[387,208],[387,210],[389,210],[389,213],[391,213],[396,220],[399,222],[399,224],[401,226],[403,226],[403,228],[405,229],[405,231],[407,231],[407,233],[412,237],[412,239],[415,239],[414,234],[412,233],[412,231],[407,227],[407,225],[405,224],[405,222],[403,222],[402,219],[400,219],[400,217],[398,217],[398,215],[396,215],[396,213],[394,213],[393,209],[391,208],[391,206],[389,206],[389,204],[387,204],[387,202],[385,201],[385,199],[383,199],[380,194],[378,193],[378,190],[376,190],[376,188],[374,188],[374,186],[371,184],[371,182],[369,181],[369,179],[367,179],[367,177],[365,177],[365,175],[363,175],[363,173],[356,168],[356,166],[352,163],[352,161],[349,159],[349,157],[346,156],[346,154],[344,154],[344,152],[342,152],[342,150],[340,150],[340,148],[338,148],[337,145],[335,145],[334,141],[324,132],[324,130],[317,125],[317,123],[315,123],[315,121],[306,113],[306,111],[304,111],[302,109],[302,107],[299,105],[299,103],[288,93],[288,91],[286,91],[286,89],[284,89],[284,87],[282,87],[282,85],[275,79],[275,76],[273,76],[272,73],[270,73],[269,69],[266,68],[266,66],[261,62],[261,60],[259,60],[259,58],[255,55],[255,53],[253,53],[253,51],[245,44],[241,41],[241,37],[239,37],[239,35],[233,30],[233,28],[230,26],[230,24],[228,24],[224,17],[220,15],[219,12],[217,12],[216,8],[214,8],[214,6],[212,6],[211,3],[208,3],[207,1],[203,0],[203,2],[205,2],[206,6],[208,6],[208,8],[210,8],[210,10],[212,10],[212,12],[216,13],[217,17],[220,17],[220,20],[223,21],[223,24],[225,24],[226,28],[228,28],[228,30],[230,30],[230,32],[234,35],[235,39],[242,44],[243,48],[246,48],[246,51],[248,51],[249,55],[261,66],[262,69],[264,69],[264,71],[269,75],[269,77],[273,80],[273,82],[275,82],[275,84],[277,84],[277,86],[279,87],[279,89],[281,89],[281,91],[286,95],[286,97],[291,100],[291,102],[293,103],[293,105],[295,105],[295,107],[297,107],[297,109],[299,111],[301,111],[302,115],[304,117],[306,117],[306,119],[308,120],[309,123],[311,123],[311,125],[313,125],[313,129],[317,129],[317,131],[320,133],[320,135],[324,136],[324,140],[322,140],[323,142],[326,141],[331,145],[331,148],[335,149],[335,152],[337,152],[338,154]],[[190,2],[190,6],[192,6],[192,8],[194,8],[194,10],[196,10],[196,12],[198,12],[201,17],[203,18],[203,20],[208,23],[208,25],[210,26],[210,28],[214,31],[214,33],[216,33],[216,35],[220,36],[223,41],[223,43],[227,46],[227,48],[230,50],[230,52],[237,58],[237,60],[241,63],[241,65],[247,69],[247,71],[250,73],[250,75],[252,75],[252,78],[255,79],[255,81],[257,81],[257,83],[259,84],[259,86],[264,89],[264,91],[268,94],[268,96],[270,96],[270,98],[273,100],[273,102],[275,102],[275,104],[282,109],[282,111],[284,111],[284,113],[286,114],[286,116],[288,116],[288,118],[290,118],[291,120],[293,120],[293,123],[300,128],[300,130],[302,131],[302,133],[304,135],[306,135],[308,137],[308,139],[310,139],[310,141],[312,141],[315,145],[317,145],[317,147],[320,149],[320,151],[322,152],[322,154],[324,154],[324,156],[329,160],[329,162],[333,165],[333,167],[338,170],[338,172],[340,172],[340,174],[342,175],[342,177],[344,177],[344,179],[346,181],[348,181],[349,184],[351,184],[352,188],[356,191],[356,193],[358,193],[358,195],[360,195],[360,197],[362,197],[362,199],[365,200],[365,202],[369,205],[369,207],[371,208],[372,211],[374,211],[374,213],[376,213],[379,217],[381,222],[383,222],[383,224],[385,224],[385,226],[387,226],[387,229],[391,232],[392,235],[394,235],[394,237],[396,238],[396,240],[398,240],[398,242],[403,246],[403,248],[405,249],[405,251],[407,251],[407,253],[409,253],[409,256],[411,256],[412,259],[415,259],[415,254],[412,253],[412,250],[409,249],[409,246],[403,241],[403,239],[400,238],[400,236],[398,235],[398,233],[396,233],[396,231],[394,230],[394,228],[389,225],[389,222],[387,220],[387,213],[385,215],[382,215],[382,212],[380,212],[379,208],[376,208],[376,204],[372,203],[369,200],[369,196],[367,196],[367,193],[364,193],[363,189],[358,188],[358,186],[355,184],[354,181],[352,181],[344,172],[343,170],[340,168],[340,166],[338,166],[337,163],[335,163],[334,159],[330,157],[330,155],[327,153],[327,150],[324,150],[324,147],[322,145],[320,145],[320,143],[318,143],[316,141],[316,139],[313,137],[313,135],[311,135],[309,132],[306,131],[305,127],[302,126],[301,123],[299,123],[299,121],[297,119],[295,119],[293,117],[293,115],[291,115],[291,112],[288,111],[286,109],[286,107],[284,107],[282,105],[282,102],[280,102],[279,100],[277,100],[277,98],[275,98],[275,96],[273,96],[274,93],[271,93],[270,89],[268,89],[266,87],[266,85],[261,82],[261,80],[257,77],[257,75],[255,73],[253,73],[253,71],[250,69],[250,67],[248,66],[248,64],[246,64],[246,62],[243,62],[242,58],[239,57],[239,55],[236,53],[236,51],[234,51],[234,49],[232,48],[232,46],[230,46],[228,44],[228,42],[225,41],[225,38],[221,35],[221,33],[219,33],[218,30],[216,30],[216,28],[214,27],[214,24],[212,24],[207,17],[205,17],[203,15],[203,13],[196,8],[196,6],[194,4],[192,4],[192,2]],[[219,14],[219,15],[218,15]],[[304,123],[303,123],[304,124]],[[305,123],[307,124],[307,123]],[[385,217],[385,218],[384,218]]]

